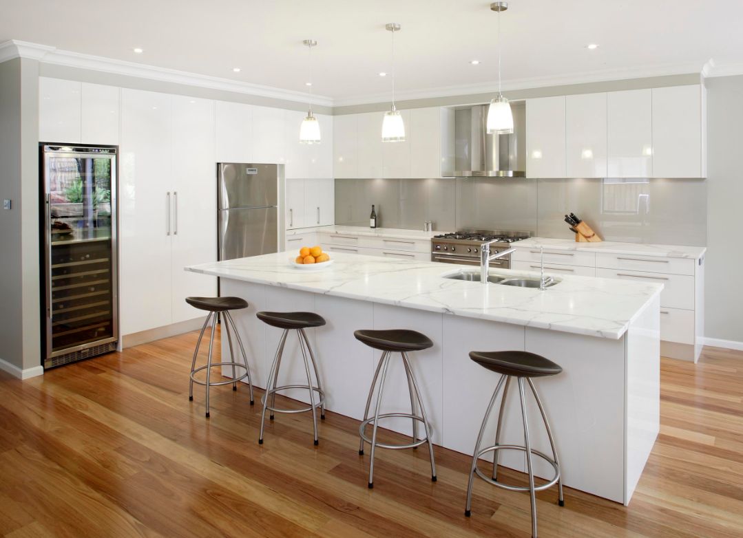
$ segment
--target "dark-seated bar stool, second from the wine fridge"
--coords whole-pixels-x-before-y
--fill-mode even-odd
[[[315,355],[312,352],[310,341],[307,338],[305,329],[311,329],[312,327],[322,327],[325,325],[325,319],[322,316],[315,314],[314,312],[258,312],[256,314],[259,320],[270,325],[271,327],[278,327],[284,329],[281,338],[279,339],[279,347],[276,349],[276,357],[273,359],[270,373],[268,374],[268,380],[266,383],[266,393],[263,395],[263,412],[261,413],[261,434],[258,439],[258,444],[263,444],[263,428],[266,418],[266,410],[270,410],[270,419],[273,420],[273,413],[305,413],[305,411],[312,412],[312,427],[314,428],[315,444],[319,444],[317,437],[317,414],[315,410],[317,407],[320,408],[320,419],[325,420],[325,391],[322,390],[322,383],[320,376],[317,371],[317,363],[315,362]],[[284,352],[284,345],[286,344],[286,338],[289,331],[296,330],[296,337],[299,339],[299,350],[302,351],[302,358],[305,360],[305,373],[307,373],[307,384],[306,385],[283,385],[277,387],[276,383],[279,380],[279,367],[281,366],[281,358]],[[310,362],[307,360],[307,351],[309,352],[312,367],[315,371],[315,379],[317,381],[317,387],[314,386],[312,381],[312,375],[310,373]],[[302,407],[302,409],[279,409],[276,407],[276,393],[279,390],[286,389],[307,389],[310,392],[310,407]],[[318,395],[318,401],[315,402],[315,393]],[[268,404],[268,398],[270,397],[270,405]]]

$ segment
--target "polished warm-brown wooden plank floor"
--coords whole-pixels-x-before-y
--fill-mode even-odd
[[[357,421],[260,410],[240,387],[188,400],[195,333],[17,381],[0,373],[0,534],[7,537],[528,537],[528,496],[478,480],[470,459],[379,450],[374,490]],[[742,537],[743,353],[663,359],[661,435],[629,508],[567,489],[538,495],[542,537]],[[201,387],[196,387],[200,389]],[[360,387],[360,397],[366,387]],[[478,411],[479,413],[480,411]],[[476,432],[473,432],[473,436]],[[523,483],[523,476],[503,475]]]

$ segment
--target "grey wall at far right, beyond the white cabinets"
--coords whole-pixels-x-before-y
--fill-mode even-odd
[[[705,332],[743,341],[743,76],[707,80]]]

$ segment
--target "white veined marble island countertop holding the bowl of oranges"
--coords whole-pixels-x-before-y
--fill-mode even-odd
[[[443,278],[452,272],[478,270],[473,266],[342,252],[334,252],[333,262],[323,269],[297,269],[292,266],[290,255],[279,252],[189,266],[186,271],[613,339],[621,338],[629,324],[663,289],[659,283],[560,275],[559,283],[542,292]],[[491,269],[491,272],[538,276],[508,269]]]

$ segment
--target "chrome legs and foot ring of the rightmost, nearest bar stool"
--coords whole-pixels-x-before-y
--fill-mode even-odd
[[[551,488],[555,484],[557,484],[558,504],[560,506],[565,506],[565,499],[562,496],[562,476],[560,473],[559,459],[557,458],[557,450],[555,449],[554,438],[552,437],[552,430],[547,420],[547,415],[545,414],[545,408],[542,406],[542,400],[539,398],[539,395],[536,393],[536,388],[534,388],[534,383],[531,380],[531,378],[516,377],[516,380],[518,381],[518,384],[519,384],[519,398],[521,401],[522,420],[524,422],[525,446],[521,446],[518,444],[500,444],[503,410],[505,407],[506,396],[508,394],[508,385],[510,384],[511,377],[513,376],[507,375],[507,374],[504,374],[501,376],[500,380],[498,381],[498,384],[496,385],[496,390],[493,391],[493,397],[490,398],[490,404],[488,404],[487,406],[487,410],[485,411],[485,416],[482,419],[482,424],[480,426],[480,433],[478,433],[477,442],[475,444],[475,453],[473,454],[472,465],[470,466],[470,480],[467,484],[467,506],[464,509],[464,515],[467,517],[470,517],[472,515],[470,508],[472,507],[472,488],[473,488],[473,482],[474,482],[475,475],[479,476],[485,482],[488,482],[489,484],[492,484],[498,488],[502,488],[502,489],[509,490],[509,491],[528,491],[531,496],[531,529],[532,529],[531,532],[532,532],[532,537],[536,538],[536,496],[535,496],[535,492],[546,490],[548,488]],[[550,441],[550,446],[552,449],[551,458],[547,456],[545,453],[542,453],[539,450],[531,448],[531,442],[529,439],[529,425],[528,425],[527,413],[526,413],[525,381],[526,383],[529,384],[529,387],[531,388],[531,392],[534,396],[534,399],[536,400],[536,404],[539,406],[539,413],[542,415],[542,421],[545,424],[545,430],[547,430],[547,436]],[[501,388],[503,388],[503,395],[501,398],[500,413],[498,416],[498,426],[496,429],[496,443],[490,447],[481,449],[480,444],[482,443],[482,436],[484,435],[485,427],[487,426],[487,421],[488,419],[490,419],[490,413],[493,412],[493,407],[495,406],[496,398],[498,397],[498,394],[500,393]],[[522,452],[526,453],[527,455],[526,463],[527,463],[527,470],[528,470],[528,475],[529,475],[528,486],[514,486],[514,485],[504,484],[504,482],[499,482],[496,479],[496,473],[498,470],[498,451],[499,450],[521,450]],[[481,456],[489,452],[493,452],[493,473],[491,477],[486,476],[485,473],[483,473],[482,470],[480,470],[480,468],[478,468],[478,465],[477,465],[478,463],[477,460]],[[548,482],[545,482],[545,484],[534,485],[532,456],[539,456],[540,458],[548,462],[554,469],[554,477],[550,479]]]

